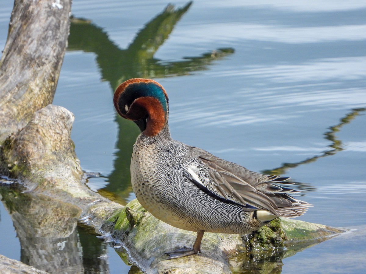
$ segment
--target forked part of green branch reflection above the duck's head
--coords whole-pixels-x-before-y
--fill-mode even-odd
[[[154,58],[156,51],[169,37],[175,24],[191,4],[192,2],[189,2],[180,9],[168,5],[137,33],[127,49],[120,49],[101,27],[88,20],[74,18],[71,20],[68,50],[95,53],[102,79],[111,84],[113,91],[120,83],[130,78],[161,78],[205,70],[213,60],[233,53],[234,49],[218,49],[198,57],[185,57],[180,61],[162,61]]]

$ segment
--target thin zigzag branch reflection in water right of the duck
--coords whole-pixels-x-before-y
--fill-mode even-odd
[[[342,126],[350,123],[354,118],[356,118],[358,115],[360,115],[360,113],[362,111],[366,111],[366,109],[365,108],[353,109],[350,113],[346,114],[345,117],[340,119],[340,123],[338,125],[331,126],[329,128],[330,131],[324,133],[324,135],[325,135],[324,138],[326,140],[331,141],[332,144],[328,146],[330,149],[322,152],[321,155],[315,155],[311,158],[307,158],[307,159],[297,162],[297,163],[284,163],[284,164],[282,164],[281,167],[274,168],[272,170],[264,170],[264,171],[262,171],[262,173],[270,174],[270,175],[282,175],[282,174],[285,174],[286,171],[290,168],[294,168],[294,167],[297,167],[302,164],[312,163],[312,162],[318,160],[319,158],[323,158],[323,157],[330,156],[330,155],[335,155],[337,152],[342,151],[344,149],[342,141],[338,140],[336,138],[335,134],[340,131]],[[312,187],[309,184],[296,182],[296,185],[298,185],[298,188],[303,191],[316,190],[314,187]]]

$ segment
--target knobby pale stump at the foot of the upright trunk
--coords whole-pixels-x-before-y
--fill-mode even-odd
[[[29,123],[8,137],[0,148],[0,173],[18,178],[35,191],[87,210],[93,202],[123,208],[82,183],[83,171],[70,134],[74,115],[64,107],[48,105]],[[90,205],[88,205],[90,204]]]

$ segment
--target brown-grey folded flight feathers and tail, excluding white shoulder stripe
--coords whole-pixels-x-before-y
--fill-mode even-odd
[[[277,185],[294,184],[287,181],[290,179],[288,177],[252,172],[240,165],[216,158],[208,152],[204,156],[200,155],[199,159],[206,164],[212,181],[227,200],[239,202],[243,206],[251,205],[254,208],[265,209],[289,218],[304,214],[307,208],[312,206],[288,195],[301,191]],[[238,176],[233,174],[234,172]],[[241,176],[245,176],[245,179],[240,178]]]

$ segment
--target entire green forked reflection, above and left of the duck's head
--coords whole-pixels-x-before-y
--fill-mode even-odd
[[[68,50],[95,53],[102,79],[111,84],[112,92],[120,83],[130,78],[162,78],[206,70],[213,61],[234,53],[234,49],[217,49],[201,56],[184,57],[180,61],[162,61],[154,58],[158,48],[163,45],[175,24],[191,4],[192,2],[189,2],[179,9],[168,5],[138,32],[127,49],[120,49],[108,38],[101,27],[97,27],[88,20],[74,18],[71,21]],[[130,181],[132,146],[139,130],[134,123],[117,116],[119,135],[116,144],[115,168],[108,176],[108,185],[98,192],[114,201],[127,203],[126,200],[132,192]]]

